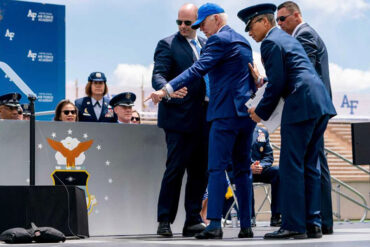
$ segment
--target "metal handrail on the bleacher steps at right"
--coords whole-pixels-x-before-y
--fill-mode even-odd
[[[277,149],[277,150],[280,150],[280,147],[279,147],[279,146],[277,146],[277,145],[275,145],[275,144],[273,144],[273,143],[271,143],[271,146],[272,146],[273,148]],[[332,150],[330,150],[330,149],[327,149],[327,148],[325,148],[325,151],[327,151],[328,153],[331,153],[331,154],[333,154],[334,156],[336,156],[336,157],[338,157],[338,158],[342,159],[343,161],[345,161],[345,162],[347,162],[348,164],[350,164],[350,165],[352,165],[352,166],[356,167],[357,169],[359,169],[359,170],[361,170],[361,171],[363,171],[363,172],[365,172],[365,173],[367,173],[367,174],[370,174],[370,172],[369,172],[369,171],[367,171],[367,170],[366,170],[366,169],[364,169],[363,167],[360,167],[360,166],[356,166],[356,165],[354,165],[350,160],[346,159],[345,157],[343,157],[343,156],[342,156],[342,155],[340,155],[339,153],[334,152],[334,151],[332,151]],[[341,181],[341,180],[337,179],[336,177],[333,177],[333,176],[330,176],[330,177],[331,177],[331,179],[332,179],[332,180],[334,180],[336,183],[338,183],[337,188],[332,188],[332,191],[334,191],[334,192],[335,192],[335,193],[337,193],[338,195],[340,195],[340,196],[342,196],[342,197],[346,198],[347,200],[351,201],[352,203],[354,203],[354,204],[356,204],[356,205],[358,205],[358,206],[362,207],[362,208],[365,210],[365,211],[364,211],[364,214],[363,214],[363,216],[361,217],[361,220],[360,220],[360,222],[363,222],[363,221],[366,219],[367,211],[370,211],[370,207],[367,205],[367,202],[366,202],[365,197],[364,197],[364,196],[363,196],[359,191],[357,191],[355,188],[353,188],[352,186],[350,186],[350,185],[348,185],[348,184],[344,183],[343,181]],[[344,194],[343,192],[341,192],[341,191],[340,191],[340,186],[339,186],[339,185],[341,185],[341,186],[343,186],[343,187],[347,188],[349,191],[351,191],[352,193],[356,194],[358,197],[360,197],[360,198],[362,199],[363,203],[361,203],[361,202],[357,201],[356,199],[353,199],[353,198],[352,198],[352,197],[350,197],[349,195],[346,195],[346,194]],[[339,209],[340,209],[340,197],[338,197],[338,198],[337,198],[337,202],[338,202],[338,211],[339,211]],[[335,215],[338,219],[340,219],[340,214],[339,214],[339,213],[336,213],[336,214],[334,214],[334,215]]]

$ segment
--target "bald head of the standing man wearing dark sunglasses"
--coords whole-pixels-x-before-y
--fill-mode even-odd
[[[178,17],[177,17],[177,24],[179,27],[179,32],[185,38],[194,38],[196,34],[196,30],[191,28],[191,24],[193,24],[198,15],[198,7],[192,3],[186,3],[181,6],[179,9]],[[190,21],[190,22],[189,22]],[[191,23],[191,24],[190,24]],[[190,24],[190,25],[186,25]]]

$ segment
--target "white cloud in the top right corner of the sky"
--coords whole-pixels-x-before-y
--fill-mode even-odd
[[[365,16],[365,12],[370,10],[370,3],[365,0],[301,0],[298,4],[303,10],[320,11],[327,18],[332,18],[333,16],[359,18]],[[320,15],[320,12],[317,12],[317,14]]]

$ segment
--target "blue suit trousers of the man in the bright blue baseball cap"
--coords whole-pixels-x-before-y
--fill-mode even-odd
[[[255,126],[249,117],[223,118],[212,122],[208,149],[208,219],[221,220],[227,188],[225,170],[232,163],[240,226],[250,227],[252,173],[249,150]]]

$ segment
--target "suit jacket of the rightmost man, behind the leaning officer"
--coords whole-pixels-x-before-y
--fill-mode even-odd
[[[307,23],[302,24],[294,34],[294,37],[302,44],[313,67],[320,79],[324,82],[330,98],[332,98],[330,77],[329,77],[329,57],[324,41],[317,32]]]

